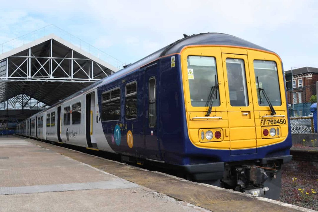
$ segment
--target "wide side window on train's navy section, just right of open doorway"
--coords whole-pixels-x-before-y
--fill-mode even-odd
[[[104,100],[106,99],[106,100]],[[108,91],[102,94],[102,121],[120,119],[120,89]]]

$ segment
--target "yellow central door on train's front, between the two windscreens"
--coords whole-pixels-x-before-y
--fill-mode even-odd
[[[230,154],[256,153],[256,133],[246,55],[222,54],[230,129]]]

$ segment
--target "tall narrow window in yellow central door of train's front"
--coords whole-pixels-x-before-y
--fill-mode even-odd
[[[226,72],[231,106],[248,106],[244,60],[226,58]]]

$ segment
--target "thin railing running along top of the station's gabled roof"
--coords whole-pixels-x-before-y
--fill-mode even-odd
[[[45,26],[43,28],[40,28],[38,30],[32,31],[28,34],[25,34],[23,36],[20,36],[18,38],[15,38],[13,40],[7,41],[3,44],[0,44],[0,52],[5,53],[7,51],[10,51],[12,49],[15,49],[19,46],[22,46],[24,44],[30,43],[38,38],[47,36],[49,34],[55,34],[56,36],[59,36],[60,38],[66,40],[67,42],[79,47],[80,49],[89,52],[91,55],[104,60],[105,62],[109,63],[110,65],[113,65],[117,69],[122,69],[123,65],[125,65],[124,62],[112,57],[111,55],[107,54],[106,52],[94,47],[93,45],[83,41],[82,39],[72,35],[71,33],[62,30],[61,28],[51,24],[48,26]]]

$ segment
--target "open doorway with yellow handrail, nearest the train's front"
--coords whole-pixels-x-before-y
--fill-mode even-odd
[[[93,104],[93,106],[92,106]],[[96,148],[96,139],[93,136],[93,110],[95,106],[95,93],[86,95],[86,142],[87,146]]]

